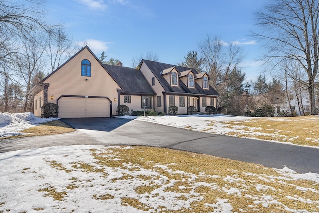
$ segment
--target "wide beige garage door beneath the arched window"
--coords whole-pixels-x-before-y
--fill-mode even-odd
[[[105,98],[62,97],[60,118],[110,117],[110,102]]]

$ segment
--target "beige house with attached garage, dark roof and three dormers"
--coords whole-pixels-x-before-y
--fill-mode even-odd
[[[44,102],[59,106],[60,118],[111,117],[117,106],[130,110],[168,113],[178,106],[186,114],[188,106],[203,112],[216,107],[219,94],[207,73],[187,67],[142,60],[136,69],[102,64],[85,46],[32,88],[34,114],[41,116]]]

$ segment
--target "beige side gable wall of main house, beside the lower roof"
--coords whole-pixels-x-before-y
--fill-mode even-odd
[[[160,82],[158,81],[158,79],[153,75],[153,73],[151,72],[151,70],[149,69],[149,67],[147,67],[147,65],[145,65],[145,63],[142,63],[141,68],[140,68],[141,72],[143,73],[143,75],[145,76],[145,78],[149,81],[150,85],[152,85],[152,77],[154,77],[154,81],[155,84],[154,86],[152,86],[153,90],[156,93],[156,96],[161,96],[161,107],[157,107],[157,98],[155,96],[155,98],[153,99],[154,101],[154,111],[156,112],[164,112],[164,96],[163,96],[163,91],[164,88],[160,85]],[[168,77],[168,82],[169,82],[169,75],[165,75]]]

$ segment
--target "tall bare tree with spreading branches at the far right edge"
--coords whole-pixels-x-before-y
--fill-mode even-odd
[[[310,114],[315,115],[319,0],[276,0],[257,12],[256,20],[262,30],[255,35],[265,41],[265,47],[269,49],[265,59],[275,66],[284,59],[292,59],[303,67],[307,76],[305,83],[310,99]]]

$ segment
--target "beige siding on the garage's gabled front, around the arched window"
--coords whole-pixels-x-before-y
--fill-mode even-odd
[[[83,59],[91,62],[91,77],[81,76]],[[120,86],[87,49],[53,73],[44,83],[50,84],[48,102],[56,103],[57,98],[61,95],[109,97],[112,101],[112,115],[116,114],[117,102],[114,101],[114,98],[117,98],[117,88]],[[52,95],[53,100],[50,98]]]

